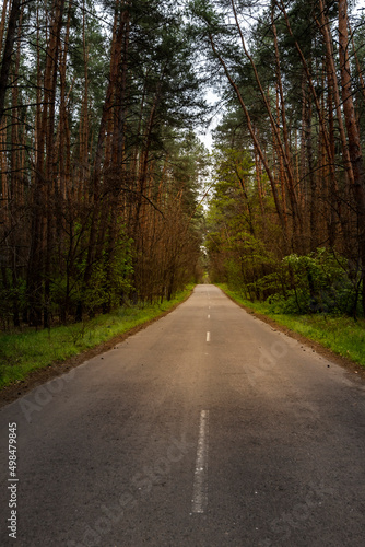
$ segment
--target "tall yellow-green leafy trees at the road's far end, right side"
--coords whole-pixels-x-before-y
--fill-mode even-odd
[[[248,298],[256,300],[270,294],[268,286],[278,257],[267,244],[276,232],[269,214],[270,195],[262,196],[257,186],[255,164],[248,150],[219,147],[214,154],[214,191],[207,214],[205,247],[210,257],[212,280],[227,280],[231,287],[243,288]],[[271,282],[271,281],[270,281]]]

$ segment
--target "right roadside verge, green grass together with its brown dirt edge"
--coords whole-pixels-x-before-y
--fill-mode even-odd
[[[365,321],[344,316],[284,315],[270,313],[268,306],[245,300],[225,283],[217,287],[236,304],[255,317],[268,323],[308,346],[317,353],[365,379]]]

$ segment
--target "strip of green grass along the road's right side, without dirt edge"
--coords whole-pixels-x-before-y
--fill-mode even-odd
[[[365,368],[365,319],[355,322],[351,317],[335,315],[289,315],[270,311],[264,302],[250,302],[237,291],[228,289],[226,283],[216,283],[228,296],[245,307],[260,313],[298,333],[306,338],[321,344],[339,356],[351,359]]]

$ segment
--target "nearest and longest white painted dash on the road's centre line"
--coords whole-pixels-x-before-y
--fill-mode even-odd
[[[208,503],[209,410],[200,412],[199,439],[192,489],[192,513],[203,513]]]

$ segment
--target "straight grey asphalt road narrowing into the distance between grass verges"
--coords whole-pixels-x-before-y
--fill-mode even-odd
[[[2,409],[0,544],[363,547],[364,389],[198,286]],[[8,480],[9,422],[19,481]]]

